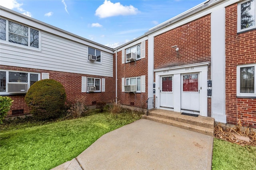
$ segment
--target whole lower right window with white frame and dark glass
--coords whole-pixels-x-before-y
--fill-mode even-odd
[[[256,64],[237,66],[237,96],[256,97]]]

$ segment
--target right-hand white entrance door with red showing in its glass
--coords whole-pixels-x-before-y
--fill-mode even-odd
[[[199,73],[182,74],[181,109],[183,112],[200,112]]]

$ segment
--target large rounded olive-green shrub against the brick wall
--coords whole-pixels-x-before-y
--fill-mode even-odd
[[[32,108],[31,113],[34,117],[55,119],[64,111],[66,92],[62,84],[56,80],[40,80],[29,88],[25,102]]]

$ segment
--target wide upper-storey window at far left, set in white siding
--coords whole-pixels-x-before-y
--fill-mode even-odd
[[[0,18],[0,40],[39,48],[39,31]]]

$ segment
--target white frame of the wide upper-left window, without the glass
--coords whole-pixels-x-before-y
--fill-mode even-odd
[[[41,51],[41,31],[39,29],[36,29],[34,27],[29,27],[28,25],[24,25],[22,23],[17,23],[16,21],[8,20],[6,18],[1,17],[1,19],[6,20],[6,40],[0,39],[1,44],[12,45],[15,47],[30,49],[30,50],[34,50],[34,51]],[[28,45],[21,45],[21,44],[9,42],[9,21],[11,21],[13,23],[17,23],[19,25],[23,25],[25,27],[28,27]],[[30,47],[30,29],[34,29],[34,30],[38,31],[38,48]]]

